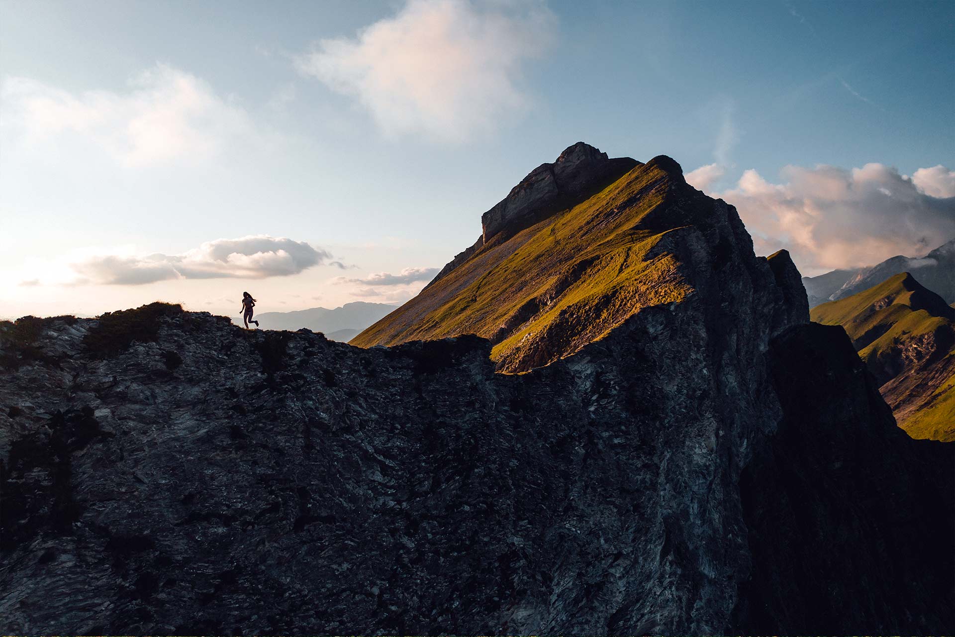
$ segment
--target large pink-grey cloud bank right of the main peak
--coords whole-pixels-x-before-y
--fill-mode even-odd
[[[747,170],[714,196],[736,206],[758,252],[786,247],[804,274],[923,254],[955,237],[955,198],[928,196],[890,166],[787,166],[781,175],[771,183]]]

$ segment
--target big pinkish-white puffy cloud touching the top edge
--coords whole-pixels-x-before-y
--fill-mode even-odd
[[[296,66],[356,98],[386,134],[459,142],[527,109],[522,66],[555,25],[533,0],[409,0],[353,38],[320,40]]]

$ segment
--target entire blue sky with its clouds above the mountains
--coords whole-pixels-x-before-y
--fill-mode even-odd
[[[244,288],[278,310],[399,302],[578,140],[710,166],[691,182],[807,273],[955,235],[951,2],[0,15],[6,315],[156,298],[234,314]]]

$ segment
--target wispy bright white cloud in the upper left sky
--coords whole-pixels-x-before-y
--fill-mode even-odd
[[[128,91],[72,93],[28,77],[0,88],[4,143],[53,146],[74,137],[129,167],[215,158],[230,139],[255,138],[244,109],[199,77],[159,64]]]

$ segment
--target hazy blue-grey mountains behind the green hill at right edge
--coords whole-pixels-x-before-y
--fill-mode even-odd
[[[942,244],[923,257],[886,259],[881,264],[859,270],[833,270],[816,277],[803,277],[809,307],[826,301],[838,301],[869,287],[877,286],[889,277],[910,272],[919,283],[944,298],[955,302],[955,239]]]

